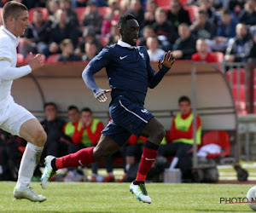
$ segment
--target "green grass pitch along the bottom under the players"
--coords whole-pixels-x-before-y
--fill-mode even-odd
[[[16,200],[15,182],[0,182],[1,212],[252,212],[247,204],[219,204],[220,198],[244,198],[253,185],[148,183],[152,204],[139,202],[128,183],[51,182],[44,203]]]

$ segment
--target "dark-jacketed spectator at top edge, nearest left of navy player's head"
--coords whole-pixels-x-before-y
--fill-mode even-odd
[[[102,14],[99,14],[96,3],[90,1],[87,3],[87,9],[83,18],[82,32],[87,27],[93,27],[96,34],[101,34],[102,31]]]

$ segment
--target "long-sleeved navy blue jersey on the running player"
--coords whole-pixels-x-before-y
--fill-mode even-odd
[[[164,66],[159,75],[150,66],[147,49],[144,47],[108,46],[96,55],[85,67],[84,82],[96,95],[101,89],[96,86],[93,74],[106,67],[112,99],[124,95],[130,101],[143,105],[148,87],[154,88],[169,70]],[[158,77],[157,77],[158,76]]]

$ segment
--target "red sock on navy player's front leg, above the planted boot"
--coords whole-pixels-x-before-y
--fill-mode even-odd
[[[157,156],[158,150],[144,147],[143,156],[141,158],[141,163],[139,169],[137,170],[136,181],[145,181],[148,175],[148,171],[151,169],[154,164],[154,160]]]

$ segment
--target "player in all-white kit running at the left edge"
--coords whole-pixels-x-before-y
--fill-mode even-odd
[[[28,60],[26,66],[16,66],[19,37],[24,34],[28,11],[22,3],[11,1],[3,7],[3,26],[0,28],[0,128],[19,135],[27,141],[20,163],[18,181],[15,186],[16,199],[43,202],[46,198],[29,187],[46,141],[46,133],[31,112],[15,103],[10,90],[13,80],[21,78],[44,65],[42,56]]]

